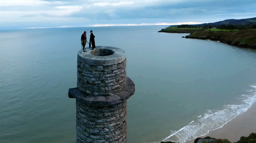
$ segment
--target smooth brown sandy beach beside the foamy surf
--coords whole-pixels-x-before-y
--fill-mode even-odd
[[[231,142],[236,142],[242,136],[248,136],[256,132],[256,103],[254,103],[245,113],[238,115],[235,119],[226,123],[222,128],[210,131],[203,137],[226,138]],[[194,140],[186,143],[194,143]]]

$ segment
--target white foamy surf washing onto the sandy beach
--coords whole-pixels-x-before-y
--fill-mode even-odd
[[[244,113],[256,102],[256,85],[250,85],[251,90],[242,94],[237,99],[241,104],[224,105],[223,110],[206,110],[206,113],[197,117],[187,126],[178,131],[171,131],[171,134],[162,141],[174,141],[184,143],[197,137],[206,135],[209,131],[222,128],[223,125]]]

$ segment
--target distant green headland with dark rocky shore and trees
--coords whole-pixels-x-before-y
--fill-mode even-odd
[[[158,32],[190,33],[183,38],[214,40],[232,46],[256,49],[256,17],[215,23],[169,26]]]

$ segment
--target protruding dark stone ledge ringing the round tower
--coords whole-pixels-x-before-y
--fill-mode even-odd
[[[106,106],[122,103],[130,98],[134,92],[134,82],[130,78],[126,77],[126,86],[124,90],[118,94],[113,94],[111,96],[92,96],[83,93],[82,91],[78,90],[78,88],[69,88],[69,98],[75,98],[89,105]]]

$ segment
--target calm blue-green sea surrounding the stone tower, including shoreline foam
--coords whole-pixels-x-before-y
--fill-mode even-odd
[[[158,33],[165,26],[0,31],[0,142],[75,143],[76,58],[84,30],[126,51],[136,92],[127,142],[184,141],[220,128],[256,102],[256,50]],[[86,45],[88,46],[88,45]]]

